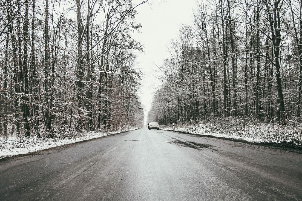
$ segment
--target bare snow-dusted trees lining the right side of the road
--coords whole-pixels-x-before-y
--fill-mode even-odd
[[[302,2],[199,1],[161,67],[148,119],[300,121]]]

